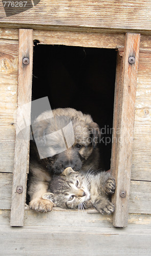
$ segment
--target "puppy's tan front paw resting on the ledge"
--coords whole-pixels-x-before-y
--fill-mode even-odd
[[[32,201],[30,201],[29,207],[32,210],[49,212],[52,210],[53,203],[46,199],[35,198]]]

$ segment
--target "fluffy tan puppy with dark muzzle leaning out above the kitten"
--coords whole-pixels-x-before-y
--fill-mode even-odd
[[[30,146],[29,205],[45,212],[53,205],[42,194],[47,193],[53,174],[61,174],[69,166],[82,172],[99,166],[100,134],[92,117],[71,108],[52,113],[53,117],[49,111],[37,117],[32,125],[35,141]]]

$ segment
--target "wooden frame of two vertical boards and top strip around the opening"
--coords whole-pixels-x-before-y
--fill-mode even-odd
[[[49,36],[46,36],[46,34],[49,34]],[[19,29],[16,119],[16,125],[18,126],[21,122],[18,111],[19,107],[31,101],[33,39],[37,38],[41,38],[40,41],[42,44],[64,44],[69,46],[118,49],[113,119],[114,132],[111,157],[111,171],[116,178],[116,191],[113,197],[113,201],[115,203],[113,225],[116,227],[125,227],[127,226],[128,203],[130,198],[131,162],[140,34],[126,33],[125,36],[121,36],[118,34],[109,35],[107,33],[89,34],[85,32],[82,33],[70,31],[40,32],[38,30],[34,31],[33,33],[32,29]],[[109,40],[109,38],[111,40]],[[123,39],[125,39],[124,47],[117,47],[118,42],[121,42],[121,44],[123,43]],[[128,62],[128,58],[132,56],[135,57],[135,63],[133,64]],[[23,63],[23,59],[25,57],[29,58],[28,65],[24,65]],[[29,104],[26,120],[27,122],[30,122],[30,113],[31,105]],[[26,133],[26,138],[21,138],[17,135],[15,137],[11,226],[24,225],[26,184],[29,169],[30,126],[28,127]]]

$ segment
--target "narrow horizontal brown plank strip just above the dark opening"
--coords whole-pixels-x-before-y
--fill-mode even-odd
[[[64,31],[62,31],[64,30]],[[0,28],[1,39],[18,40],[18,29]],[[124,47],[124,33],[107,33],[92,29],[90,32],[76,31],[75,27],[51,28],[50,30],[33,30],[33,39],[39,40],[40,44],[69,45],[99,48]],[[151,50],[151,36],[141,35],[140,49]]]

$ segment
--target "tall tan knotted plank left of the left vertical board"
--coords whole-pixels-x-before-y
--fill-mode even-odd
[[[18,41],[0,39],[0,171],[13,172]]]

